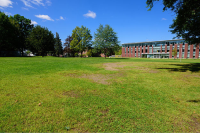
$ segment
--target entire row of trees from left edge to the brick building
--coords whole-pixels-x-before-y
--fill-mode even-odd
[[[45,56],[62,55],[63,53],[75,56],[88,50],[88,55],[92,53],[104,53],[108,55],[111,51],[119,51],[119,41],[117,33],[109,25],[100,25],[92,35],[87,27],[76,27],[72,35],[68,36],[62,47],[59,34],[56,36],[46,27],[34,26],[31,20],[16,14],[8,16],[0,12],[0,51],[20,51],[24,56],[24,51],[29,50],[32,53]],[[69,56],[69,55],[68,55]],[[106,57],[106,56],[105,56]]]

